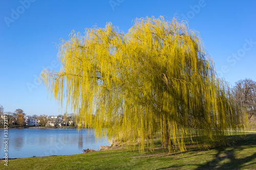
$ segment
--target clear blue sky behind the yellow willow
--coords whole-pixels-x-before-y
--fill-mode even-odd
[[[29,2],[29,3],[28,3]],[[234,85],[256,81],[256,1],[0,1],[0,104],[27,115],[63,114],[34,80],[44,67],[59,70],[56,44],[112,22],[127,32],[136,17],[174,15],[200,32],[219,76]],[[29,85],[29,86],[28,86]]]

